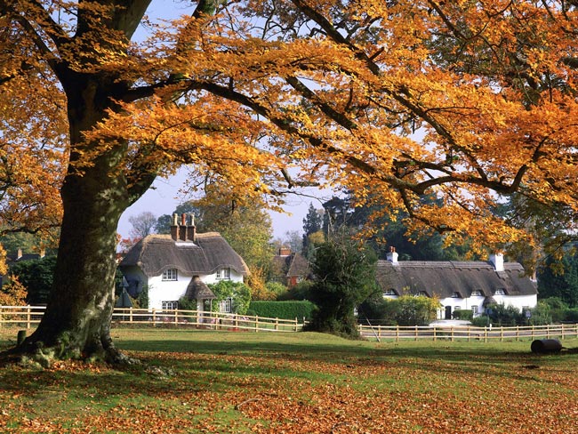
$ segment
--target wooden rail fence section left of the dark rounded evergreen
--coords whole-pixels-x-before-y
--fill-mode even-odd
[[[31,328],[44,315],[44,306],[0,306],[0,327],[12,325]],[[252,317],[200,310],[119,309],[112,314],[112,326],[150,325],[194,327],[212,330],[253,332],[296,332],[303,323],[295,319]]]

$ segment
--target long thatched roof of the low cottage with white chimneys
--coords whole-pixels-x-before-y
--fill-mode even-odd
[[[524,274],[518,262],[505,262],[503,271],[495,271],[485,261],[378,261],[377,280],[381,288],[396,293],[427,293],[430,297],[471,296],[472,291],[491,297],[502,289],[506,295],[538,293],[535,282]]]

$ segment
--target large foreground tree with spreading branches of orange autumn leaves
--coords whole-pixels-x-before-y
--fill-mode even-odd
[[[237,204],[339,184],[479,245],[533,241],[492,213],[500,195],[578,210],[575,2],[201,0],[165,27],[149,3],[0,0],[2,152],[52,173],[32,179],[63,210],[51,300],[20,351],[121,358],[116,223],[183,163],[191,189],[221,182]],[[156,31],[137,43],[141,21]],[[3,189],[28,181],[11,173]]]

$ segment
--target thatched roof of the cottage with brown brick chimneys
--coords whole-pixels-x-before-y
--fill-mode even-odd
[[[147,276],[158,276],[166,269],[179,269],[190,275],[213,274],[217,269],[230,268],[243,275],[249,269],[245,261],[217,232],[197,234],[195,242],[175,242],[170,235],[149,235],[126,253],[120,263],[124,267],[138,266]]]

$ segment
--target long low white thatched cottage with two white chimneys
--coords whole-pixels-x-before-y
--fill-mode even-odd
[[[377,280],[386,298],[399,295],[438,297],[438,318],[450,319],[456,309],[474,316],[488,304],[514,306],[521,311],[537,303],[537,285],[518,262],[504,262],[502,253],[490,261],[397,261],[395,248],[387,261],[378,261]]]

